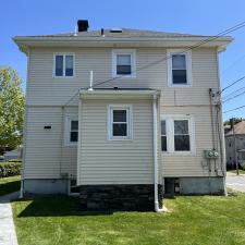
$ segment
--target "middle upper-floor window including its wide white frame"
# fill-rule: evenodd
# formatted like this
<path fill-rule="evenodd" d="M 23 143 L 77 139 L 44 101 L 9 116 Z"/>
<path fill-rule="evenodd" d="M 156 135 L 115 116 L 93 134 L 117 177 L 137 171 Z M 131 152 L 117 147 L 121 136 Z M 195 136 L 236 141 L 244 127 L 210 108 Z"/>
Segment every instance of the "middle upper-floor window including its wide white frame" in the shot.
<path fill-rule="evenodd" d="M 112 76 L 135 77 L 135 50 L 112 50 Z"/>

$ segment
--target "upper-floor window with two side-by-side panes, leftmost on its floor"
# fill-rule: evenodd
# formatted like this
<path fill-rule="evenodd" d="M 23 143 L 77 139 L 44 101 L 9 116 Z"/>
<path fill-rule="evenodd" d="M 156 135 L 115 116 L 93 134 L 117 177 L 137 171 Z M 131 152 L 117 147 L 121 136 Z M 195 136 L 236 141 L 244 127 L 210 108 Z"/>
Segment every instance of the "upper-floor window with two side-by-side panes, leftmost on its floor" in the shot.
<path fill-rule="evenodd" d="M 56 53 L 54 54 L 54 76 L 71 77 L 74 76 L 74 54 Z"/>

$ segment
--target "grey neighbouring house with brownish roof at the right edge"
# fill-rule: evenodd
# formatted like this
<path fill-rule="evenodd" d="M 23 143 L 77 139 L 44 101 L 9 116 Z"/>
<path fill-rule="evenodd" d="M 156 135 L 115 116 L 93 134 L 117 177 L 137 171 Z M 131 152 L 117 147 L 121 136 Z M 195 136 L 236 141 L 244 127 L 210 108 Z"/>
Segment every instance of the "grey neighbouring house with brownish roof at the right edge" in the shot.
<path fill-rule="evenodd" d="M 236 146 L 236 149 L 235 149 Z M 237 162 L 245 163 L 245 121 L 238 122 L 225 134 L 225 152 L 228 168 L 235 168 L 235 150 Z"/>

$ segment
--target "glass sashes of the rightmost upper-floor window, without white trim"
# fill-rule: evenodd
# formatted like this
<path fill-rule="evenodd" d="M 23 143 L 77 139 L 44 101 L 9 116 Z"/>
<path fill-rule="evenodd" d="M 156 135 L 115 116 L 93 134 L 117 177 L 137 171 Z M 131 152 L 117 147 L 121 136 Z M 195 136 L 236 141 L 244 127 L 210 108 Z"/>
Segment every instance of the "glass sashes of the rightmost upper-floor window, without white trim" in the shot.
<path fill-rule="evenodd" d="M 186 59 L 185 54 L 172 56 L 172 83 L 173 84 L 187 84 L 185 59 Z"/>

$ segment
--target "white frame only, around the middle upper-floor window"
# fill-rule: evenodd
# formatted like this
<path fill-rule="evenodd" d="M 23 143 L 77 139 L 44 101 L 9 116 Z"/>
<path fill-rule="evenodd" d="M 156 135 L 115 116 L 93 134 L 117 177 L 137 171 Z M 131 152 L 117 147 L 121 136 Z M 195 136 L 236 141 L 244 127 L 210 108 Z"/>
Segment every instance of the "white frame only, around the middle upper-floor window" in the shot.
<path fill-rule="evenodd" d="M 120 75 L 117 74 L 117 57 L 118 54 L 130 54 L 131 56 L 131 74 Z M 135 49 L 112 49 L 112 77 L 122 78 L 135 78 L 136 77 L 136 50 Z"/>

